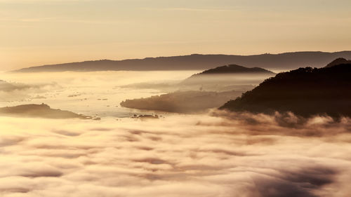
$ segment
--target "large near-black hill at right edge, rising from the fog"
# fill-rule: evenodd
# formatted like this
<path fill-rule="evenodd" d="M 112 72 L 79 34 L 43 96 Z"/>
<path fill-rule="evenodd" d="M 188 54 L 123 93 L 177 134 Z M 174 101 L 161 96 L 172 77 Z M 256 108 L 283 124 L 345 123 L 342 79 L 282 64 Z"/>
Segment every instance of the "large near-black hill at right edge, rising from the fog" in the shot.
<path fill-rule="evenodd" d="M 351 64 L 305 67 L 277 74 L 220 107 L 230 111 L 272 113 L 292 111 L 300 116 L 351 116 Z"/>

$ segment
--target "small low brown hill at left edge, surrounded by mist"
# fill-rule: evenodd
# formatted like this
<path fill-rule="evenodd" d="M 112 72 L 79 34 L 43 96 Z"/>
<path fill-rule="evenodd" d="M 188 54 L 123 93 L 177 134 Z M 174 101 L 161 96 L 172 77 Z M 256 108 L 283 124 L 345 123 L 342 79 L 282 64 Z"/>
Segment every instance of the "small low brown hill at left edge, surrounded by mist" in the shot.
<path fill-rule="evenodd" d="M 23 104 L 14 107 L 1 107 L 0 116 L 21 116 L 32 118 L 80 118 L 91 119 L 90 116 L 75 114 L 71 111 L 51 109 L 47 104 Z"/>

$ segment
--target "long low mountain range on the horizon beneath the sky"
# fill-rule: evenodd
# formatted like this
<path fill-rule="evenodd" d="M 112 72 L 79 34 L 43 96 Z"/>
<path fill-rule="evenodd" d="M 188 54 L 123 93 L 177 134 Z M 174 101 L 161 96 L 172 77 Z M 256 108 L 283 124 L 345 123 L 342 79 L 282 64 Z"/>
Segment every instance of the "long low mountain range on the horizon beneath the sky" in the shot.
<path fill-rule="evenodd" d="M 173 57 L 147 57 L 133 60 L 96 60 L 29 67 L 14 72 L 204 70 L 226 64 L 240 64 L 247 67 L 262 67 L 265 69 L 296 69 L 298 67 L 322 67 L 338 57 L 351 59 L 351 51 L 335 53 L 267 53 L 262 55 L 193 54 Z"/>

